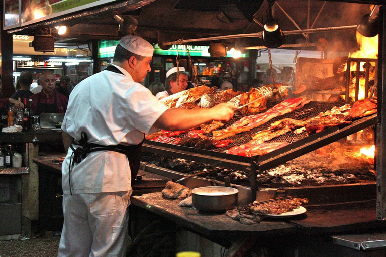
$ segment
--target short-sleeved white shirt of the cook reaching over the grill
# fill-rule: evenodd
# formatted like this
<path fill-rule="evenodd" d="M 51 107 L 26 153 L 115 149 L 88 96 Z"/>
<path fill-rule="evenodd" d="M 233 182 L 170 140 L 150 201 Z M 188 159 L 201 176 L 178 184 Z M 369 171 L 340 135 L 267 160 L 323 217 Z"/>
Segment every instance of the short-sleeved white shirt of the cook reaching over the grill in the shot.
<path fill-rule="evenodd" d="M 115 66 L 115 65 L 114 65 Z M 80 82 L 72 91 L 62 130 L 78 142 L 81 132 L 88 143 L 100 145 L 139 144 L 142 132 L 150 130 L 167 109 L 149 89 L 124 75 L 104 70 Z M 62 165 L 63 193 L 69 194 L 72 149 Z M 126 155 L 97 151 L 70 167 L 71 191 L 75 194 L 131 191 L 131 173 Z"/>

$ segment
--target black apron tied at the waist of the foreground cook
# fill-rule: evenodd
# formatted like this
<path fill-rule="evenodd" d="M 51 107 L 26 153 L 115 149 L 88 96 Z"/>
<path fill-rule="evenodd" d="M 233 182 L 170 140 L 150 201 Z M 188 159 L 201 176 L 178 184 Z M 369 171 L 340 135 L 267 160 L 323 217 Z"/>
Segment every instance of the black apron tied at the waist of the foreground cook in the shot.
<path fill-rule="evenodd" d="M 114 151 L 121 154 L 126 155 L 127 159 L 129 160 L 129 166 L 131 171 L 131 179 L 134 180 L 137 177 L 139 166 L 141 164 L 141 154 L 142 154 L 142 144 L 145 140 L 145 137 L 143 138 L 142 142 L 138 145 L 113 145 L 113 146 L 102 146 L 94 143 L 88 143 L 88 137 L 85 132 L 82 132 L 81 139 L 79 140 L 79 143 L 75 142 L 75 139 L 72 141 L 70 148 L 73 151 L 73 159 L 72 163 L 70 163 L 70 166 L 74 165 L 75 163 L 80 163 L 82 159 L 86 158 L 89 153 L 97 152 L 97 151 Z M 73 145 L 78 145 L 76 149 Z M 71 156 L 72 157 L 72 156 Z M 68 180 L 70 183 L 70 193 L 71 192 L 71 181 L 70 181 L 70 172 L 68 172 Z"/>

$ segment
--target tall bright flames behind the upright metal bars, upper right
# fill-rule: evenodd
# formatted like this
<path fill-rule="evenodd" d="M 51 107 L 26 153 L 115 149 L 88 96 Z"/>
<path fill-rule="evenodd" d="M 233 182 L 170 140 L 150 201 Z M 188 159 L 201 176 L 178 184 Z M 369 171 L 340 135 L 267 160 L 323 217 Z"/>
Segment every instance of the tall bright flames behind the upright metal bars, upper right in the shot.
<path fill-rule="evenodd" d="M 348 57 L 351 58 L 368 58 L 368 59 L 377 59 L 378 58 L 378 35 L 372 38 L 367 38 L 360 34 L 358 31 L 356 32 L 356 41 L 358 42 L 359 49 L 355 53 L 350 53 Z M 360 71 L 364 71 L 364 62 L 360 63 Z M 375 63 L 371 63 L 371 65 L 375 66 Z M 350 71 L 356 71 L 356 62 L 351 63 Z M 375 70 L 373 72 L 370 71 L 369 79 L 373 78 L 375 75 Z M 353 85 L 355 85 L 356 78 L 353 79 Z M 364 85 L 365 79 L 359 78 L 359 92 L 358 99 L 364 99 Z M 350 96 L 355 97 L 355 88 L 350 88 Z"/>

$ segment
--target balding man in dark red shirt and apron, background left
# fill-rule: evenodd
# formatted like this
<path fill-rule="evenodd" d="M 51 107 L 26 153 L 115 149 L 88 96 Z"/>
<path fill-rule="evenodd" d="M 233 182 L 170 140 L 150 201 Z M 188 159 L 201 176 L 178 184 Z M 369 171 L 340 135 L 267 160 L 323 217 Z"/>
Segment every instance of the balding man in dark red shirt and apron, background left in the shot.
<path fill-rule="evenodd" d="M 46 70 L 40 73 L 39 83 L 42 91 L 29 98 L 33 100 L 32 109 L 35 115 L 66 112 L 68 98 L 54 91 L 55 81 L 52 71 Z"/>

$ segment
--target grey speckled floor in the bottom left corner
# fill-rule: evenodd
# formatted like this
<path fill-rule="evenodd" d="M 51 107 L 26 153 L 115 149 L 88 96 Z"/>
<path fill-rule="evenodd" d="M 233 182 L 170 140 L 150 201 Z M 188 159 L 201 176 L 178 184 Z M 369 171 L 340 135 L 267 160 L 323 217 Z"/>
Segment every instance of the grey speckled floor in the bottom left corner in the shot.
<path fill-rule="evenodd" d="M 59 241 L 60 236 L 0 241 L 0 257 L 54 257 Z"/>

